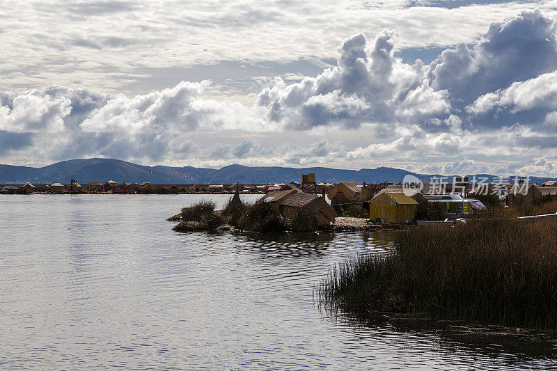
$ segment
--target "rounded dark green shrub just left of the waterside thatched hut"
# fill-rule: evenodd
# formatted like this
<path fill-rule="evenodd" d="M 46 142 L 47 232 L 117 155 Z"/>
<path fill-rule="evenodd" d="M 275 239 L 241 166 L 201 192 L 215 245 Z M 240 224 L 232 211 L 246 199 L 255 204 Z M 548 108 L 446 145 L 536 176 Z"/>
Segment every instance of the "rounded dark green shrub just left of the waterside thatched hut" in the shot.
<path fill-rule="evenodd" d="M 285 219 L 270 203 L 256 203 L 246 210 L 238 226 L 256 232 L 282 232 L 286 230 Z"/>

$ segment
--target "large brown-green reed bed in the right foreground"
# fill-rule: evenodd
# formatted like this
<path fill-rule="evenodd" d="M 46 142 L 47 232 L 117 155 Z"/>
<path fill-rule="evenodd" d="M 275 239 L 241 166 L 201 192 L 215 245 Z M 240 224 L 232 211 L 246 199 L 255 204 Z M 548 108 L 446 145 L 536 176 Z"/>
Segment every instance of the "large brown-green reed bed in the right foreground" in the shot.
<path fill-rule="evenodd" d="M 335 269 L 320 301 L 350 311 L 557 330 L 557 221 L 476 219 L 400 232 L 395 252 Z"/>

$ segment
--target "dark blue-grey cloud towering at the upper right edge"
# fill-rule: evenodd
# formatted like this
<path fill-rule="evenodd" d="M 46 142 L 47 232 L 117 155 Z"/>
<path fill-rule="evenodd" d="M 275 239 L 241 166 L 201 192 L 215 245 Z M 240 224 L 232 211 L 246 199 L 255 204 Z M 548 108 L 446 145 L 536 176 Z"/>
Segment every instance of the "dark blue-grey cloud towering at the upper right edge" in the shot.
<path fill-rule="evenodd" d="M 539 9 L 493 22 L 472 49 L 447 49 L 427 70 L 432 88 L 452 101 L 478 97 L 557 68 L 557 22 Z"/>

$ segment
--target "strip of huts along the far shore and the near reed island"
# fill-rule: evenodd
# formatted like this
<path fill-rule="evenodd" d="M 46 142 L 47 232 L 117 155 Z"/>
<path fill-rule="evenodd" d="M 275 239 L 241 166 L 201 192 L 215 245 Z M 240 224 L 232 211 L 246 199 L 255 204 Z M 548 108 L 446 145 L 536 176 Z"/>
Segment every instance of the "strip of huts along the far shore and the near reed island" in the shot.
<path fill-rule="evenodd" d="M 0 194 L 261 194 L 285 219 L 310 212 L 320 227 L 366 229 L 385 224 L 454 223 L 490 207 L 528 207 L 557 200 L 557 181 L 526 180 L 476 183 L 469 177 L 421 183 L 409 193 L 407 184 L 385 181 L 317 182 L 315 173 L 289 184 L 150 184 L 89 182 L 79 184 L 0 184 Z M 554 214 L 551 212 L 550 214 Z"/>

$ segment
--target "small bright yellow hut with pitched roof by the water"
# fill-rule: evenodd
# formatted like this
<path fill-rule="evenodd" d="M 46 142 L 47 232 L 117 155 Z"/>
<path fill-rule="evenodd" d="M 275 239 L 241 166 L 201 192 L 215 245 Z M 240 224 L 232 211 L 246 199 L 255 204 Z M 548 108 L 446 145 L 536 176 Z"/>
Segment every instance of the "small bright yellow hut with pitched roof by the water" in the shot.
<path fill-rule="evenodd" d="M 370 220 L 382 223 L 411 223 L 418 201 L 405 194 L 382 192 L 370 200 Z"/>

